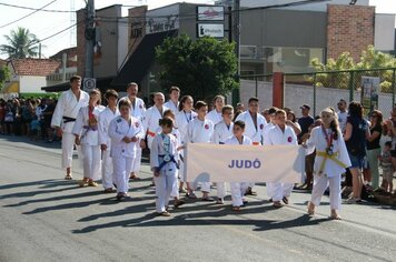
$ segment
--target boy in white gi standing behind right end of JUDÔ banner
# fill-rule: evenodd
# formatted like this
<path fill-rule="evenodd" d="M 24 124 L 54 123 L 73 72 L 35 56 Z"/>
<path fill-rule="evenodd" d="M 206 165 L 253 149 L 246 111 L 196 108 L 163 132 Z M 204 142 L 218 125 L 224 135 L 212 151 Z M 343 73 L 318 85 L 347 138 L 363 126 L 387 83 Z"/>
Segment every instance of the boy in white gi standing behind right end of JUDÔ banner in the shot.
<path fill-rule="evenodd" d="M 286 124 L 286 111 L 278 110 L 275 113 L 275 127 L 271 128 L 267 137 L 264 138 L 264 145 L 274 145 L 274 144 L 289 144 L 297 145 L 297 135 L 295 131 Z M 267 182 L 270 188 L 270 198 L 273 199 L 273 206 L 280 208 L 280 201 L 284 201 L 285 204 L 289 203 L 289 198 L 294 184 L 286 182 Z"/>

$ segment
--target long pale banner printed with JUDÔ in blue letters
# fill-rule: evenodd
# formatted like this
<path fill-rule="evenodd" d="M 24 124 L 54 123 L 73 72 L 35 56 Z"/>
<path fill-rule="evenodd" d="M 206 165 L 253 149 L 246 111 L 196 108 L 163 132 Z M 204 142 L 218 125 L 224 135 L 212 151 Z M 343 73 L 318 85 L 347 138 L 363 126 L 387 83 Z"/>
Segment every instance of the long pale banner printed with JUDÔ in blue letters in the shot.
<path fill-rule="evenodd" d="M 187 182 L 301 182 L 305 149 L 299 145 L 188 143 Z"/>

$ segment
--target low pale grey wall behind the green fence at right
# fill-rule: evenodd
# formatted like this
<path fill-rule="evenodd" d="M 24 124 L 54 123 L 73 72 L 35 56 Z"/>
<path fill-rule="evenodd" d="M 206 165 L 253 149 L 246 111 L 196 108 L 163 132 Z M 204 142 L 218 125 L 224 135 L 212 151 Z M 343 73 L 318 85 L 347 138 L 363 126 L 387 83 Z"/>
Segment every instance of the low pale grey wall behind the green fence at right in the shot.
<path fill-rule="evenodd" d="M 240 101 L 247 108 L 249 98 L 256 97 L 256 82 L 253 80 L 240 81 Z M 259 99 L 260 111 L 273 105 L 273 83 L 258 82 L 257 98 Z M 316 103 L 314 104 L 314 88 L 311 85 L 286 84 L 285 85 L 285 107 L 291 108 L 297 117 L 300 117 L 300 109 L 304 103 L 311 108 L 311 114 L 318 114 L 320 110 L 327 107 L 337 108 L 337 102 L 340 99 L 349 101 L 349 90 L 317 88 Z M 360 101 L 360 92 L 354 92 L 354 100 Z M 314 105 L 316 111 L 314 112 Z M 379 110 L 384 117 L 389 117 L 392 110 L 392 94 L 379 93 L 378 98 Z"/>

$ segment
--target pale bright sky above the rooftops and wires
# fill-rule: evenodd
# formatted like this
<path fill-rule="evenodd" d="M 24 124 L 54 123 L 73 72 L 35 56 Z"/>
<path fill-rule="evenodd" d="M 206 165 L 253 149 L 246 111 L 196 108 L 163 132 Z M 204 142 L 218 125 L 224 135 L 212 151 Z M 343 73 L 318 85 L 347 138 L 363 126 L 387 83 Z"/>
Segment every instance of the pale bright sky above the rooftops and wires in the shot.
<path fill-rule="evenodd" d="M 185 2 L 196 2 L 196 3 L 214 3 L 210 0 L 180 0 Z M 131 6 L 148 4 L 149 9 L 155 9 L 162 6 L 168 6 L 175 2 L 180 2 L 175 0 L 95 0 L 96 9 L 112 4 L 122 4 L 123 16 L 127 14 L 128 8 Z M 370 6 L 376 6 L 376 12 L 379 13 L 396 13 L 396 0 L 370 0 Z M 0 3 L 8 3 L 29 8 L 41 8 L 50 3 L 44 9 L 47 10 L 79 10 L 85 8 L 85 0 L 0 0 Z M 69 28 L 76 21 L 75 16 L 70 12 L 36 12 L 18 22 L 13 22 L 29 13 L 32 10 L 26 10 L 13 7 L 6 7 L 0 4 L 0 44 L 7 44 L 4 34 L 9 34 L 11 30 L 18 27 L 28 28 L 31 33 L 34 33 L 38 39 L 48 38 L 66 28 Z M 11 23 L 12 22 L 12 23 Z M 10 23 L 10 24 L 8 24 Z M 8 26 L 7 26 L 8 24 Z M 58 51 L 73 47 L 76 44 L 76 31 L 66 30 L 57 34 L 56 37 L 49 38 L 42 42 L 42 56 L 48 58 Z M 6 59 L 7 56 L 0 54 L 1 59 Z"/>

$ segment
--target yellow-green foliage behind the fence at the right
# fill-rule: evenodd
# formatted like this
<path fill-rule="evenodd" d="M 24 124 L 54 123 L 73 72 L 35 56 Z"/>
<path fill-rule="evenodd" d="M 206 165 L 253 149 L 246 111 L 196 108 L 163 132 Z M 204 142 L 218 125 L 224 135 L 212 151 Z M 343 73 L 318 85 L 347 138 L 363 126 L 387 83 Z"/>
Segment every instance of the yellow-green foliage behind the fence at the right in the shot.
<path fill-rule="evenodd" d="M 376 51 L 373 46 L 368 46 L 362 51 L 360 61 L 355 63 L 349 52 L 343 52 L 337 59 L 328 59 L 327 63 L 320 63 L 318 59 L 311 60 L 311 67 L 316 74 L 316 87 L 339 88 L 339 89 L 358 89 L 362 77 L 379 77 L 380 91 L 392 92 L 392 82 L 396 59 L 390 54 Z M 373 70 L 385 69 L 389 70 Z M 356 70 L 350 72 L 328 72 Z M 363 70 L 363 71 L 362 71 Z M 325 72 L 325 73 L 320 73 Z M 353 77 L 353 79 L 352 79 Z"/>

